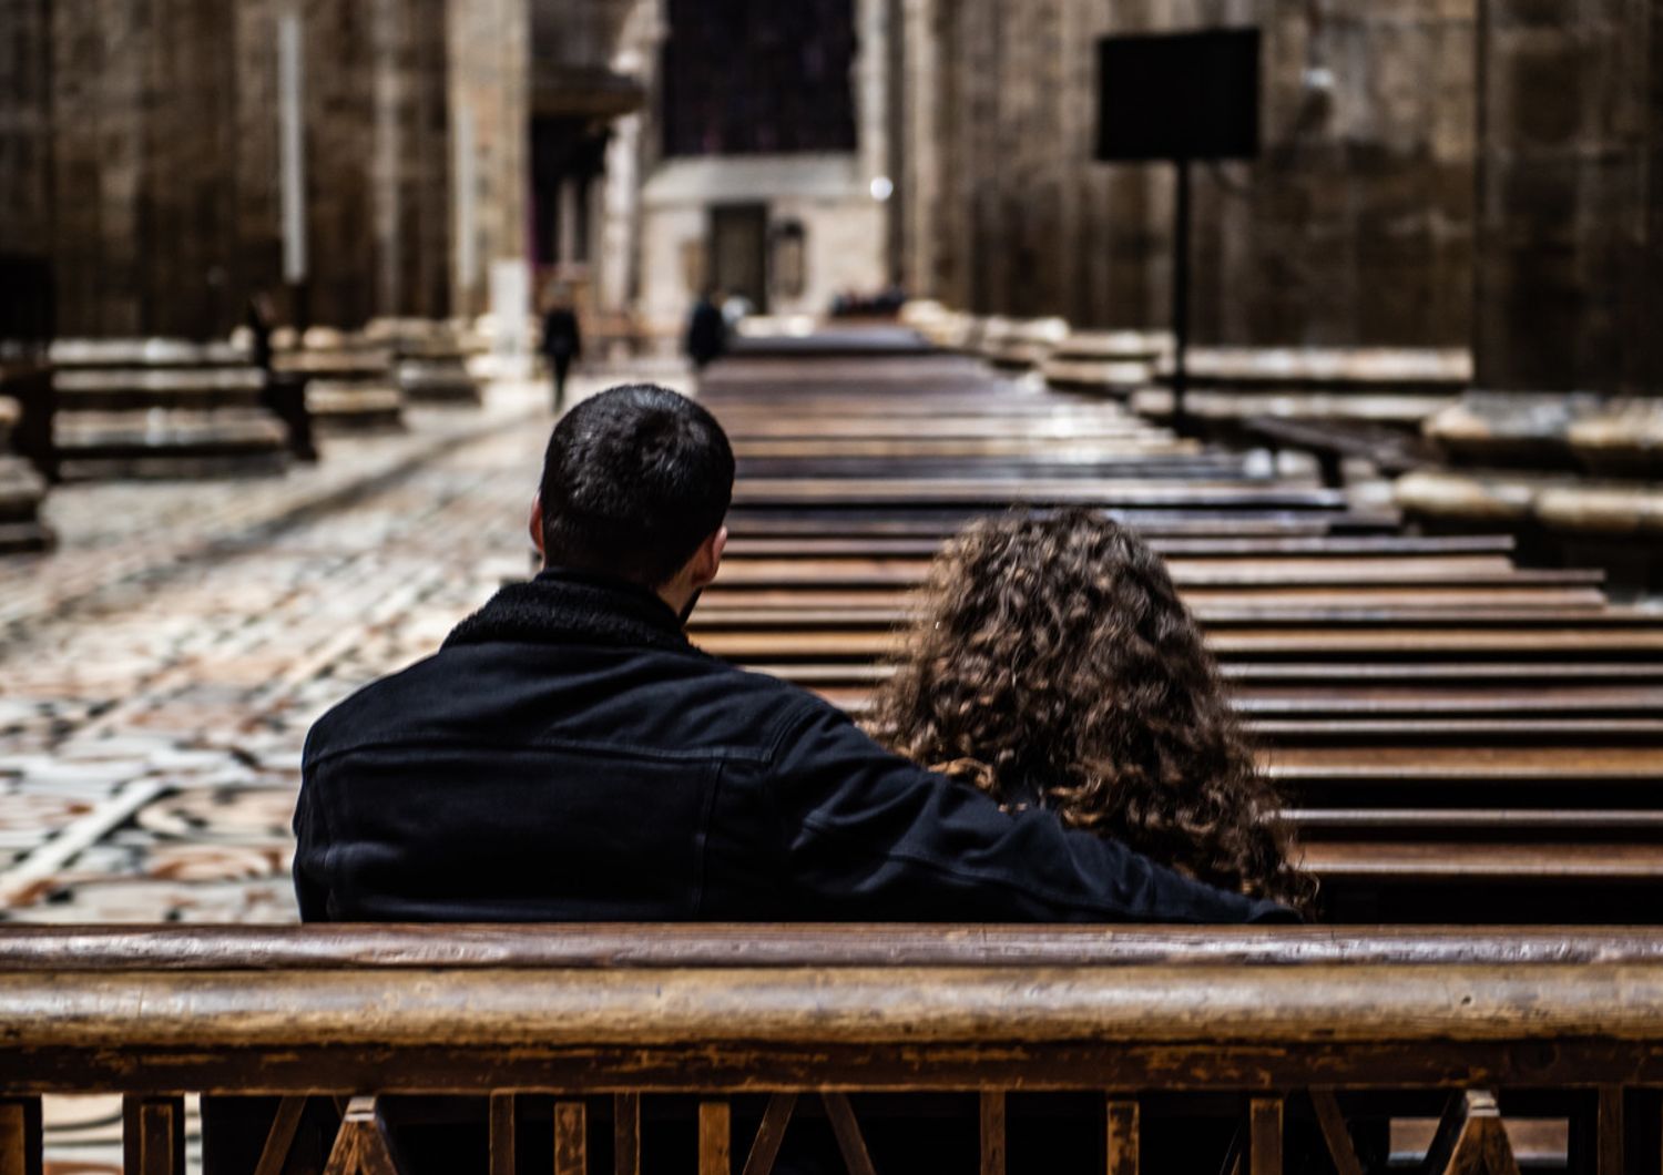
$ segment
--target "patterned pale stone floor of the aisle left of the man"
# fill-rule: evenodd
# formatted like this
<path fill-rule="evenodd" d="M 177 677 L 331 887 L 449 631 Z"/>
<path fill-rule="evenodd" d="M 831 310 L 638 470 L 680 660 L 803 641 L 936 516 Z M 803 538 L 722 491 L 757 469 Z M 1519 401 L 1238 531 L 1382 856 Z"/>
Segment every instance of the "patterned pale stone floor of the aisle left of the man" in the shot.
<path fill-rule="evenodd" d="M 55 492 L 62 550 L 0 562 L 0 917 L 293 921 L 306 730 L 526 570 L 542 396 L 281 479 Z"/>

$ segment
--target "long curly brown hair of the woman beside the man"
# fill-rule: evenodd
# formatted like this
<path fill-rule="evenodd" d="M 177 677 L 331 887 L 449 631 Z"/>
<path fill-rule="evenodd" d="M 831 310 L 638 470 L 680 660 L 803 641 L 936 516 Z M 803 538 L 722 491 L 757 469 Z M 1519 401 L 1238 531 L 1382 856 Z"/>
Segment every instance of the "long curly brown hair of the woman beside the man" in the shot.
<path fill-rule="evenodd" d="M 983 519 L 953 538 L 866 726 L 1201 881 L 1300 911 L 1315 897 L 1166 565 L 1103 515 Z"/>

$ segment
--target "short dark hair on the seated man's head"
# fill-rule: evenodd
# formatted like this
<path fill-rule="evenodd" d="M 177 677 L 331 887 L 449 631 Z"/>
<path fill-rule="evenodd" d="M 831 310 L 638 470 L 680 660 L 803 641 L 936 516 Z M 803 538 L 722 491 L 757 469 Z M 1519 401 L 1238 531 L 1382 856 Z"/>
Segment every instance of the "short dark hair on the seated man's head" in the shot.
<path fill-rule="evenodd" d="M 540 494 L 550 567 L 655 588 L 720 529 L 733 499 L 733 449 L 693 401 L 627 384 L 554 425 Z"/>

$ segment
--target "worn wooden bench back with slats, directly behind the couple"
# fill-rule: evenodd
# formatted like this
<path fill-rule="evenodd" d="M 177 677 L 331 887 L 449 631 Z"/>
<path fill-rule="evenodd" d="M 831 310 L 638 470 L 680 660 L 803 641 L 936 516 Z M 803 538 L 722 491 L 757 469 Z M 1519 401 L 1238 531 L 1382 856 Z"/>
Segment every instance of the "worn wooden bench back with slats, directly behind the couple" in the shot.
<path fill-rule="evenodd" d="M 0 1172 L 38 1170 L 45 1094 L 125 1094 L 128 1170 L 181 1170 L 185 1094 L 339 1099 L 329 1172 L 396 1170 L 378 1099 L 489 1095 L 492 1172 L 522 1095 L 554 1095 L 554 1165 L 589 1118 L 639 1172 L 642 1107 L 697 1102 L 685 1170 L 770 1170 L 798 1105 L 875 1168 L 848 1094 L 980 1097 L 983 1175 L 1011 1092 L 1086 1092 L 1106 1168 L 1146 1105 L 1237 1115 L 1237 1170 L 1384 1162 L 1384 1122 L 1442 1114 L 1432 1172 L 1515 1170 L 1502 1114 L 1570 1123 L 1572 1170 L 1663 1155 L 1663 932 L 1109 927 L 13 929 L 0 939 Z M 732 1099 L 770 1095 L 735 1137 Z M 1219 1097 L 1226 1095 L 1226 1097 Z M 762 1102 L 758 1102 L 762 1105 Z M 1176 1107 L 1176 1109 L 1174 1109 Z M 1407 1109 L 1405 1109 L 1407 1107 Z M 1201 1114 L 1202 1110 L 1194 1110 Z M 1370 1157 L 1375 1155 L 1375 1157 Z M 1149 1167 L 1147 1170 L 1154 1170 Z"/>

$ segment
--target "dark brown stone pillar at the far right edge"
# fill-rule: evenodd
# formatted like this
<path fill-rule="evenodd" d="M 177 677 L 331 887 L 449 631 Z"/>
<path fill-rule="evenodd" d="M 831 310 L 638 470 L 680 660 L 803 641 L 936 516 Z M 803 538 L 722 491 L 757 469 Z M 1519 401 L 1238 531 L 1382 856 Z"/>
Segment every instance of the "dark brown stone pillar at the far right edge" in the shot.
<path fill-rule="evenodd" d="M 1483 0 L 1478 384 L 1658 392 L 1663 3 Z"/>

